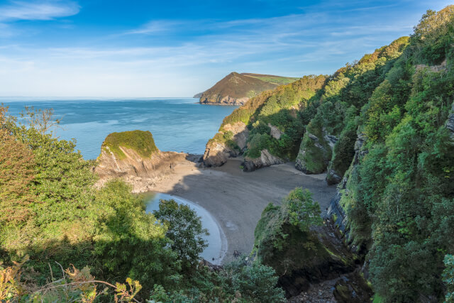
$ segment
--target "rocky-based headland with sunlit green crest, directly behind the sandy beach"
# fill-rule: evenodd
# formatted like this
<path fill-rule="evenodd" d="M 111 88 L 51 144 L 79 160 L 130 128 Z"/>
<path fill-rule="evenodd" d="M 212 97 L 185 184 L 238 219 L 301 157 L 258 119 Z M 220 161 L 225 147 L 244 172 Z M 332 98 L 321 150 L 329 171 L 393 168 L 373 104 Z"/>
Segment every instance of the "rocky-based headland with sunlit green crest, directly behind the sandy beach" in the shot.
<path fill-rule="evenodd" d="M 251 171 L 296 158 L 304 132 L 299 110 L 325 80 L 323 75 L 305 76 L 250 99 L 223 120 L 206 145 L 204 164 L 219 166 L 244 154 L 243 170 Z"/>

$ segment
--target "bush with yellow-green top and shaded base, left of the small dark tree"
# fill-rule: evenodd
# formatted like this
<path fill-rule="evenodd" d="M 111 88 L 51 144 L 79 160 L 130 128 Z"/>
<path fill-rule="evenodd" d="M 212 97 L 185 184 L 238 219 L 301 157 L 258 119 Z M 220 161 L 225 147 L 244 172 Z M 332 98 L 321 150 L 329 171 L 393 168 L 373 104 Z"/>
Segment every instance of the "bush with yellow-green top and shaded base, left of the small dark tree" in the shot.
<path fill-rule="evenodd" d="M 130 192 L 125 183 L 113 181 L 96 193 L 102 212 L 94 236 L 95 268 L 107 278 L 143 281 L 143 293 L 148 293 L 155 283 L 175 283 L 181 261 L 167 248 L 166 228 L 156 224 L 155 216 L 145 213 L 143 200 Z"/>

